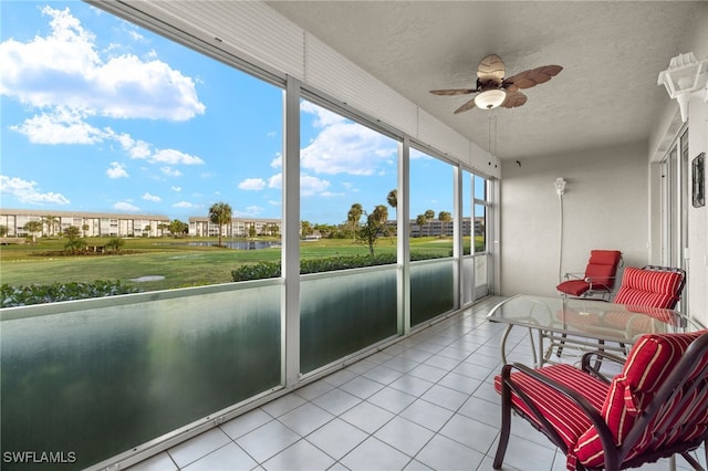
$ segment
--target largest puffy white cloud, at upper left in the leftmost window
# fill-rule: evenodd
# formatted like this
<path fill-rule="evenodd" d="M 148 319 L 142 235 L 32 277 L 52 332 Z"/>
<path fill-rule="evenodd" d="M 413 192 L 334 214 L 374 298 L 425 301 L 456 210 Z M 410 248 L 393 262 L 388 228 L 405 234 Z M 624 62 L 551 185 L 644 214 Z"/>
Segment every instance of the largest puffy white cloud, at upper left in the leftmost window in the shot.
<path fill-rule="evenodd" d="M 186 121 L 204 114 L 191 77 L 158 60 L 103 59 L 95 35 L 69 8 L 44 7 L 42 13 L 51 18 L 48 35 L 0 43 L 0 94 L 32 107 L 115 118 Z"/>

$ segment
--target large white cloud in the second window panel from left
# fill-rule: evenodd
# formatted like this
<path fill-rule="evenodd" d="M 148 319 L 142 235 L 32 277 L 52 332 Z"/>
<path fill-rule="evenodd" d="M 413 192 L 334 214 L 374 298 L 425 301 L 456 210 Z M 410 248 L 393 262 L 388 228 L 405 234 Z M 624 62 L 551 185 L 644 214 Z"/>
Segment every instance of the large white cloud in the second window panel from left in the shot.
<path fill-rule="evenodd" d="M 384 135 L 303 102 L 322 130 L 301 151 L 302 168 L 316 174 L 381 175 L 393 167 L 398 146 Z"/>

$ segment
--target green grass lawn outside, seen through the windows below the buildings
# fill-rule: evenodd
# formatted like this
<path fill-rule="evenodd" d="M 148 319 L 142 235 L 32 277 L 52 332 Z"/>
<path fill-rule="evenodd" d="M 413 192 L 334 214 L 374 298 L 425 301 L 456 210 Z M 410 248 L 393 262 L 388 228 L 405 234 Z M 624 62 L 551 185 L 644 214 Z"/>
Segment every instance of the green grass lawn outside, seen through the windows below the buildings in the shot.
<path fill-rule="evenodd" d="M 169 290 L 231 282 L 231 270 L 243 263 L 279 261 L 280 249 L 233 250 L 216 247 L 190 247 L 188 241 L 216 239 L 125 239 L 124 254 L 62 257 L 59 251 L 65 240 L 39 239 L 35 244 L 0 248 L 0 283 L 13 286 L 31 283 L 93 282 L 121 280 L 142 291 Z M 90 238 L 88 245 L 104 245 L 107 239 Z M 183 244 L 178 244 L 184 242 Z M 469 244 L 469 240 L 466 240 Z M 376 253 L 395 253 L 396 240 L 382 239 Z M 449 255 L 451 239 L 417 238 L 410 241 L 415 252 Z M 302 259 L 367 255 L 368 248 L 351 240 L 322 239 L 300 243 Z M 52 254 L 54 252 L 54 254 Z M 164 280 L 132 282 L 140 276 L 164 276 Z"/>

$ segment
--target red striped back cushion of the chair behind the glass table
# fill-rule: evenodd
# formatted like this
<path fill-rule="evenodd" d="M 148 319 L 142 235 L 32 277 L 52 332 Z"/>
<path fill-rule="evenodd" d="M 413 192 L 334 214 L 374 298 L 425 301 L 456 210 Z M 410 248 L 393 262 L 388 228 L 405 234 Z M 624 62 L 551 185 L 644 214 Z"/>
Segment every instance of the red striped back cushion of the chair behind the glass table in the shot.
<path fill-rule="evenodd" d="M 622 276 L 622 286 L 614 299 L 615 304 L 670 307 L 678 301 L 677 292 L 681 274 L 627 266 Z"/>

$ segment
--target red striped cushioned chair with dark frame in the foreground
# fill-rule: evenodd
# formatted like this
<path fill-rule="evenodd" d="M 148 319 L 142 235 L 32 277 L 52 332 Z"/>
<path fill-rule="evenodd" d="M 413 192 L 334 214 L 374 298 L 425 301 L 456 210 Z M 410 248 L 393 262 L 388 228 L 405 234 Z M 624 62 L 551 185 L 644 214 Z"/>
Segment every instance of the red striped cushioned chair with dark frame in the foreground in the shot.
<path fill-rule="evenodd" d="M 624 367 L 604 381 L 593 375 L 594 355 L 624 362 Z M 708 460 L 708 329 L 647 334 L 626 362 L 589 353 L 582 366 L 503 366 L 494 378 L 501 394 L 494 469 L 507 451 L 512 410 L 563 450 L 569 470 L 614 471 L 674 454 L 704 469 L 688 453 L 704 444 Z"/>

